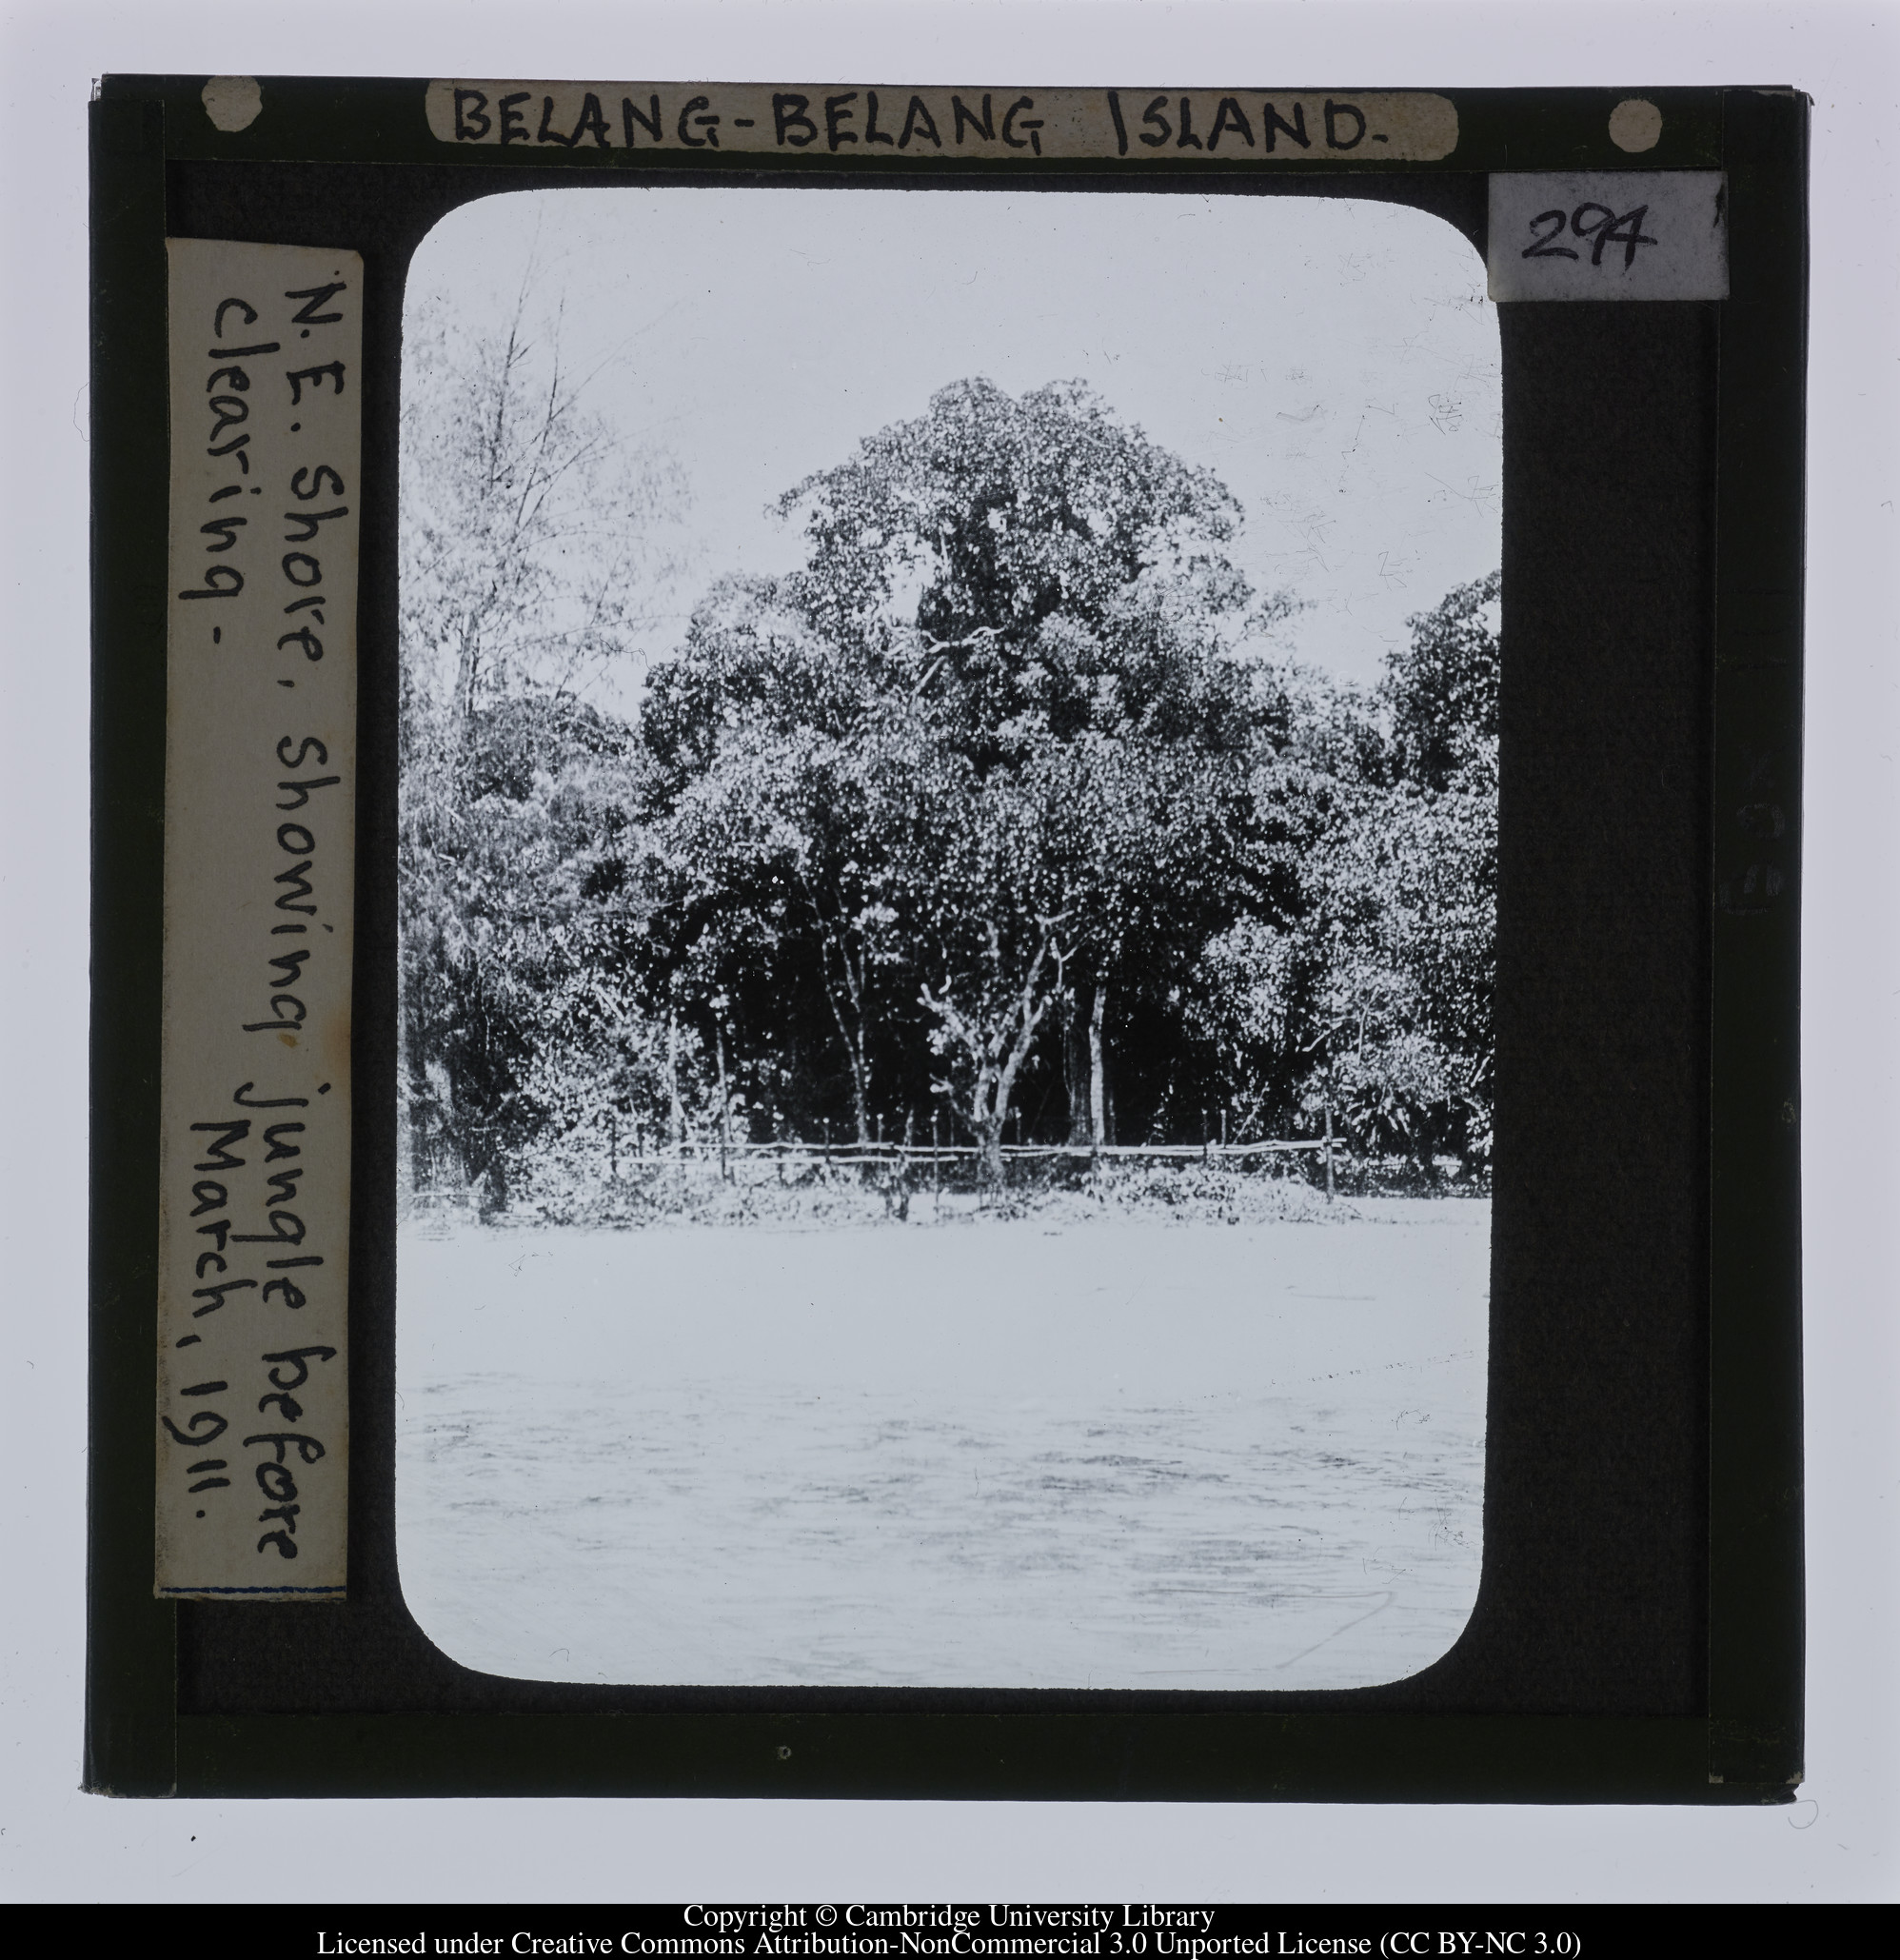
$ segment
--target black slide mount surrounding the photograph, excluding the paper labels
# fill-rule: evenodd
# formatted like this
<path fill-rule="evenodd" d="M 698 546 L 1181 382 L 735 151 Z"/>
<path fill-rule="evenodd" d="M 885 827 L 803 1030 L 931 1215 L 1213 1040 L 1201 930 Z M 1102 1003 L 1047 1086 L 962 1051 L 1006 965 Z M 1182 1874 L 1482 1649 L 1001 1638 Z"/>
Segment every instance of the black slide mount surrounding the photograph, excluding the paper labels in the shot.
<path fill-rule="evenodd" d="M 422 82 L 267 80 L 269 112 L 220 137 L 200 86 L 112 78 L 92 112 L 88 1788 L 1786 1799 L 1804 98 L 1651 92 L 1665 147 L 1627 159 L 1604 137 L 1616 92 L 1445 90 L 1453 159 L 1322 176 L 455 151 L 422 123 Z M 1445 1660 L 1392 1688 L 1306 1695 L 710 1693 L 502 1682 L 427 1642 L 394 1566 L 394 1133 L 369 1092 L 394 1080 L 388 525 L 369 527 L 363 557 L 351 1601 L 151 1599 L 167 229 L 365 253 L 365 494 L 392 512 L 402 276 L 435 218 L 475 196 L 565 182 L 1351 194 L 1433 210 L 1482 247 L 1476 172 L 1633 165 L 1729 171 L 1733 298 L 1504 312 L 1498 1127 L 1522 1174 L 1500 1180 L 1494 1209 L 1484 1586 Z"/>

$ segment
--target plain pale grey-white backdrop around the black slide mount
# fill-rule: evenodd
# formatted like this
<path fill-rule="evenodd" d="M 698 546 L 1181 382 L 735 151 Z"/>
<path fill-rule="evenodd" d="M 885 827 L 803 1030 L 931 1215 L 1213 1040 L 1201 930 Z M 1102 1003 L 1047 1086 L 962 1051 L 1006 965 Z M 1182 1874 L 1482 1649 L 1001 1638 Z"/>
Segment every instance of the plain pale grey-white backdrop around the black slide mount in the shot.
<path fill-rule="evenodd" d="M 8 4 L 0 529 L 6 1533 L 0 1889 L 20 1899 L 1890 1899 L 1900 20 L 1890 4 L 692 8 Z M 104 71 L 892 76 L 1816 96 L 1806 1286 L 1810 1780 L 1775 1811 L 112 1803 L 76 1791 L 84 1576 L 84 102 Z M 157 737 L 157 731 L 153 731 Z"/>

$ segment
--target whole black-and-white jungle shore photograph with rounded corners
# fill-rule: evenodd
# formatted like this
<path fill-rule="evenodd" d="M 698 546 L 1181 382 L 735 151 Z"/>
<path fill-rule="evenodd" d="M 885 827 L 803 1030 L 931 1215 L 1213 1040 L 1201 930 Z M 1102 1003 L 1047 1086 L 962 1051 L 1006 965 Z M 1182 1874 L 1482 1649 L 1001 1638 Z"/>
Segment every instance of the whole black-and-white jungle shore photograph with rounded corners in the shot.
<path fill-rule="evenodd" d="M 404 308 L 398 1548 L 492 1674 L 1478 1588 L 1502 394 L 1380 202 L 512 192 Z"/>

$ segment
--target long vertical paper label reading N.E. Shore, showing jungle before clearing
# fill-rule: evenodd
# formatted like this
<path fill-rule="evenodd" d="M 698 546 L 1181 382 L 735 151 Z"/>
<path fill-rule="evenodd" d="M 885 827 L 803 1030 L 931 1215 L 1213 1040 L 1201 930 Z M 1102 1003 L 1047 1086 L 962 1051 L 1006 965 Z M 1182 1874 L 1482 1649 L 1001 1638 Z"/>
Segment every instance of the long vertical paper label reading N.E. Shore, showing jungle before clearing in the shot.
<path fill-rule="evenodd" d="M 335 1599 L 363 261 L 167 253 L 157 1592 Z"/>

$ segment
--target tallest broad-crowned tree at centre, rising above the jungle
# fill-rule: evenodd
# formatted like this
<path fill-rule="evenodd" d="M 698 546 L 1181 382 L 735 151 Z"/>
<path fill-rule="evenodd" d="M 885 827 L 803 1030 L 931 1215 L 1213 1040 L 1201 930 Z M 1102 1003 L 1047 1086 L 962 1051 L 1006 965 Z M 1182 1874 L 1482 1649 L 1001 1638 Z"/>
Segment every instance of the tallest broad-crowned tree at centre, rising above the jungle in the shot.
<path fill-rule="evenodd" d="M 1233 498 L 1076 382 L 1010 398 L 967 380 L 798 484 L 782 510 L 810 541 L 786 582 L 796 602 L 814 631 L 857 649 L 873 686 L 925 711 L 961 784 L 937 835 L 990 866 L 978 955 L 955 984 L 943 972 L 920 990 L 939 1054 L 963 1058 L 965 1119 L 990 1152 L 1055 1000 L 1075 1070 L 1080 988 L 1100 1137 L 1108 988 L 1137 937 L 1153 964 L 1196 937 L 1184 921 L 1212 888 L 1224 888 L 1214 909 L 1229 902 L 1253 809 L 1263 700 L 1257 668 L 1235 659 L 1251 594 L 1225 555 Z M 1159 778 L 1169 794 L 1147 796 Z M 1084 806 L 1094 829 L 1078 849 L 1071 811 Z M 1135 809 L 1141 821 L 1124 821 Z M 1182 849 L 1182 817 L 1196 849 Z M 1020 833 L 1008 849 L 1006 827 Z M 955 939 L 947 917 L 929 907 L 937 955 Z"/>

